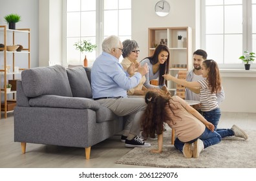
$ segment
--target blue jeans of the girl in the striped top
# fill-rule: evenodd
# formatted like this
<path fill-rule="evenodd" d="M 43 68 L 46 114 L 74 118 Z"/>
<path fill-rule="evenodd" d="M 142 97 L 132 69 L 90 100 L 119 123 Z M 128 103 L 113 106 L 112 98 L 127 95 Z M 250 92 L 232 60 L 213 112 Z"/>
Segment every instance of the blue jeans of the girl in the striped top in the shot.
<path fill-rule="evenodd" d="M 231 129 L 217 129 L 221 115 L 220 108 L 214 109 L 213 111 L 202 112 L 202 115 L 206 120 L 208 120 L 208 122 L 214 125 L 214 130 L 220 134 L 221 138 L 235 135 L 235 133 Z"/>

